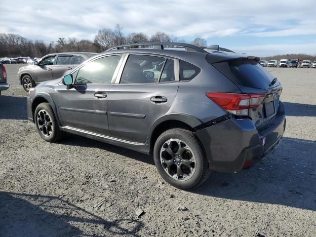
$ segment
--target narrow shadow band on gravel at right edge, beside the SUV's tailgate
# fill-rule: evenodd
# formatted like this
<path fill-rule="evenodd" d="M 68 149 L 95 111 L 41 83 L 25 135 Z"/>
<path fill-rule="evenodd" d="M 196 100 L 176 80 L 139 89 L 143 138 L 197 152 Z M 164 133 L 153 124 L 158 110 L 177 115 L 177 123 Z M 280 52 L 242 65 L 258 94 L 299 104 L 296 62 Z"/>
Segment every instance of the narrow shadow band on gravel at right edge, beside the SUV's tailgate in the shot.
<path fill-rule="evenodd" d="M 316 105 L 282 102 L 287 116 L 316 117 Z"/>

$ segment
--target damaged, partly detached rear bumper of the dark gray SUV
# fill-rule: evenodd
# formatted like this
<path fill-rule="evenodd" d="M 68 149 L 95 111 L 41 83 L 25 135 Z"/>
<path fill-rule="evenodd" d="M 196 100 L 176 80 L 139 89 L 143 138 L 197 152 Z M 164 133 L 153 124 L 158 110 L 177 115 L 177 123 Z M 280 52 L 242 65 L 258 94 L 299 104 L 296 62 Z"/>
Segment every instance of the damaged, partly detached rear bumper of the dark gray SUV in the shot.
<path fill-rule="evenodd" d="M 197 131 L 196 135 L 205 148 L 210 170 L 236 172 L 243 168 L 245 161 L 268 156 L 280 142 L 284 130 L 285 108 L 280 102 L 276 118 L 269 127 L 259 131 L 249 118 L 230 118 Z"/>

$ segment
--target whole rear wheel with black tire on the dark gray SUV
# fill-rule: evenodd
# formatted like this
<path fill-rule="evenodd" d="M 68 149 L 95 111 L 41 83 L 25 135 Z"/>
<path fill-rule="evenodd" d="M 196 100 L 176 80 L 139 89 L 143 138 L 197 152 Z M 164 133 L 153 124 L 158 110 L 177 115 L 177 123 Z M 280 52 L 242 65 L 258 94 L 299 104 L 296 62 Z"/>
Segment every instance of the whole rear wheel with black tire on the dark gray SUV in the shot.
<path fill-rule="evenodd" d="M 179 144 L 182 155 L 179 155 Z M 163 132 L 154 146 L 154 161 L 161 177 L 178 189 L 196 188 L 209 175 L 204 149 L 196 135 L 186 129 L 172 128 Z"/>

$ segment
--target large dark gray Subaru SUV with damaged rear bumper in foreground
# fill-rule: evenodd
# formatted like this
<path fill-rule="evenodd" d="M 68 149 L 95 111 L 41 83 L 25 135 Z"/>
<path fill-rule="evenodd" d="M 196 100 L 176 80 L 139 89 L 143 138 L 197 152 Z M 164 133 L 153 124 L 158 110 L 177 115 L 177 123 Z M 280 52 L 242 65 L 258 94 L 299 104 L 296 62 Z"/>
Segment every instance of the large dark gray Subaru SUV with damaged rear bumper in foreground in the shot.
<path fill-rule="evenodd" d="M 69 132 L 153 155 L 164 180 L 193 188 L 280 142 L 282 86 L 258 61 L 218 45 L 117 46 L 31 88 L 28 118 L 48 142 Z"/>

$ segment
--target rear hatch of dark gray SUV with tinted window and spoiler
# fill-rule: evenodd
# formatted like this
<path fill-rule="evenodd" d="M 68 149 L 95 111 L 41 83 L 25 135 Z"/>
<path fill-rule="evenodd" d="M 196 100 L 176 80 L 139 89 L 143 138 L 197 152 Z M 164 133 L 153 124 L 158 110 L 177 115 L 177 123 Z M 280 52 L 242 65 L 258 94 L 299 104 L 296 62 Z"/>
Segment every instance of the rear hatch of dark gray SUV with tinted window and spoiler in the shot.
<path fill-rule="evenodd" d="M 212 57 L 207 56 L 207 61 Z M 258 58 L 238 56 L 235 59 L 211 63 L 217 70 L 233 81 L 242 94 L 250 96 L 247 116 L 252 119 L 257 129 L 268 126 L 276 117 L 282 86 L 268 70 L 259 63 Z M 247 108 L 247 107 L 245 107 Z"/>

